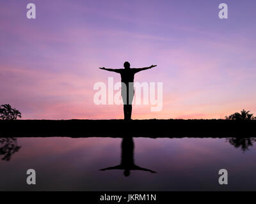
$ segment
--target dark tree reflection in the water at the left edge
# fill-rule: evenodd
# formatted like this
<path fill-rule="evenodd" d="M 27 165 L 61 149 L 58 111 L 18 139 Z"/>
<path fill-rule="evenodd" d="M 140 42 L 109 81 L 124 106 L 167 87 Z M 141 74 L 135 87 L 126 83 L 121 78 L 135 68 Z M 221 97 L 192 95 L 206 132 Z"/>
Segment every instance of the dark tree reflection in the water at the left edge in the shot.
<path fill-rule="evenodd" d="M 10 161 L 12 155 L 18 152 L 21 146 L 17 144 L 17 138 L 0 138 L 0 155 L 4 161 Z"/>

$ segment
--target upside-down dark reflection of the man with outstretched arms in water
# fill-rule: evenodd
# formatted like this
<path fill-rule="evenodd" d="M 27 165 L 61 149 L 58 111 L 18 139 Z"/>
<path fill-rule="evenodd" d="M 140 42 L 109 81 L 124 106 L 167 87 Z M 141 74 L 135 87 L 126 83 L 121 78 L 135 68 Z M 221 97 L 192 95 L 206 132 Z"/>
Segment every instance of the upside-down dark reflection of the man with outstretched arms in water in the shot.
<path fill-rule="evenodd" d="M 156 171 L 148 170 L 147 168 L 141 168 L 134 164 L 134 143 L 132 137 L 124 137 L 122 140 L 122 159 L 121 164 L 117 166 L 111 166 L 104 168 L 100 171 L 105 170 L 124 170 L 125 177 L 130 175 L 131 170 L 141 170 L 141 171 L 150 171 L 151 173 L 156 173 Z"/>

